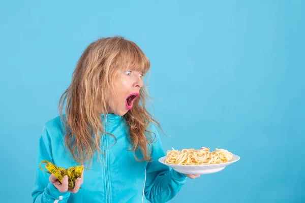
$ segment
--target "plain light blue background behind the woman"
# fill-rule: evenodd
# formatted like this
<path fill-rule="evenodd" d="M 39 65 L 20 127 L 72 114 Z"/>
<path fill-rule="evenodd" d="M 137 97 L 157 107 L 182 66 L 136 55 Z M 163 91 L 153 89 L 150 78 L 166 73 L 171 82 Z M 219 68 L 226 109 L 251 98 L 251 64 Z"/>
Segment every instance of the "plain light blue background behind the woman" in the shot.
<path fill-rule="evenodd" d="M 1 200 L 31 202 L 38 139 L 85 47 L 123 36 L 151 60 L 171 147 L 241 159 L 171 202 L 303 202 L 304 1 L 6 1 L 0 4 Z M 153 108 L 149 107 L 153 112 Z"/>

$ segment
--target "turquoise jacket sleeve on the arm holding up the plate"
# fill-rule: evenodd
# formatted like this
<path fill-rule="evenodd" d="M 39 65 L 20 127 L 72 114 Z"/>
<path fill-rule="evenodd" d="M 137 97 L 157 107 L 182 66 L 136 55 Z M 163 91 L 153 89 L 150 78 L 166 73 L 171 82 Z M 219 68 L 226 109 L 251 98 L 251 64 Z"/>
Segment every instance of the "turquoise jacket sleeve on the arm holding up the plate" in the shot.
<path fill-rule="evenodd" d="M 181 186 L 187 181 L 185 174 L 170 170 L 167 165 L 158 161 L 165 156 L 159 134 L 154 126 L 151 131 L 156 133 L 156 142 L 151 151 L 151 162 L 146 167 L 146 183 L 144 194 L 150 202 L 166 202 L 172 199 Z"/>

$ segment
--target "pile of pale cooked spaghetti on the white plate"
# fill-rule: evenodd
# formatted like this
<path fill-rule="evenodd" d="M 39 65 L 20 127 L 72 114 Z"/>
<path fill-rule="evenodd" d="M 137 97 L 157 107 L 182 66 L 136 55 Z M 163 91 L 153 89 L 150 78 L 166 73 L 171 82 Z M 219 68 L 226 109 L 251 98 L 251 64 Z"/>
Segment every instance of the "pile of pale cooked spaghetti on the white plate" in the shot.
<path fill-rule="evenodd" d="M 165 163 L 175 165 L 209 165 L 225 163 L 233 160 L 233 154 L 225 149 L 217 149 L 210 152 L 208 147 L 199 150 L 182 149 L 167 151 Z"/>

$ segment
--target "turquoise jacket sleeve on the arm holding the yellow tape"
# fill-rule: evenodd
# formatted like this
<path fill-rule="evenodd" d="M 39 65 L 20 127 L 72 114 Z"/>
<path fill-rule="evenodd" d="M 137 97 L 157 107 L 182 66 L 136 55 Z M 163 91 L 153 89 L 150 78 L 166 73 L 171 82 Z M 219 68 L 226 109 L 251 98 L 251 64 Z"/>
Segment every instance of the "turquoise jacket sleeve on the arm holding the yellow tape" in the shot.
<path fill-rule="evenodd" d="M 39 163 L 43 160 L 54 163 L 52 158 L 51 139 L 44 125 L 39 139 L 37 160 L 35 165 L 34 186 L 32 190 L 33 203 L 65 203 L 70 192 L 60 192 L 52 183 L 49 182 L 50 174 L 43 172 L 39 168 Z M 44 170 L 46 170 L 43 167 Z"/>

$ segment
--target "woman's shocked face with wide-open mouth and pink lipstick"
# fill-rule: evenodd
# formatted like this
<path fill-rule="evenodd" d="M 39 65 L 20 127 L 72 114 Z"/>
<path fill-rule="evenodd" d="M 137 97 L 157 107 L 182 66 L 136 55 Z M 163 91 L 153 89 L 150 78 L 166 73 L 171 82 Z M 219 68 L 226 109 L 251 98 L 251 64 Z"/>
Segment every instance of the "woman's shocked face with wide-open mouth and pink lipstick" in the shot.
<path fill-rule="evenodd" d="M 123 116 L 132 109 L 143 86 L 143 75 L 137 71 L 120 71 L 114 81 L 114 92 L 108 100 L 109 111 Z"/>

